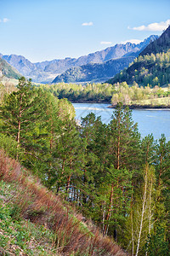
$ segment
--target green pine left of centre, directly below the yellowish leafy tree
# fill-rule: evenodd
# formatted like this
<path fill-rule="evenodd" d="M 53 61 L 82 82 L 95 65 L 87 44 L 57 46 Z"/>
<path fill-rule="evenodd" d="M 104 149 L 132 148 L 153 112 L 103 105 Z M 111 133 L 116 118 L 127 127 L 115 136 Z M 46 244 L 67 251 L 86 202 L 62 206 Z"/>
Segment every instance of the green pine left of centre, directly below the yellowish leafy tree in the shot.
<path fill-rule="evenodd" d="M 59 136 L 55 138 L 53 156 L 58 162 L 58 168 L 54 173 L 52 188 L 58 192 L 63 190 L 66 193 L 65 198 L 72 201 L 70 193 L 73 187 L 78 190 L 77 181 L 82 177 L 84 165 L 84 144 L 74 119 L 63 121 L 62 130 Z"/>

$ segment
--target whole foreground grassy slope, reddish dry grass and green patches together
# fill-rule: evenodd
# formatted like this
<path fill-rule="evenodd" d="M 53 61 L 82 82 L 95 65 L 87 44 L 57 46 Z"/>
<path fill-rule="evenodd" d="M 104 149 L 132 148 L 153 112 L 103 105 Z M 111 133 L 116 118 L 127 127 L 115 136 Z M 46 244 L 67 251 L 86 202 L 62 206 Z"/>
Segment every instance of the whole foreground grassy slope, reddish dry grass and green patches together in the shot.
<path fill-rule="evenodd" d="M 126 255 L 0 151 L 0 254 Z"/>

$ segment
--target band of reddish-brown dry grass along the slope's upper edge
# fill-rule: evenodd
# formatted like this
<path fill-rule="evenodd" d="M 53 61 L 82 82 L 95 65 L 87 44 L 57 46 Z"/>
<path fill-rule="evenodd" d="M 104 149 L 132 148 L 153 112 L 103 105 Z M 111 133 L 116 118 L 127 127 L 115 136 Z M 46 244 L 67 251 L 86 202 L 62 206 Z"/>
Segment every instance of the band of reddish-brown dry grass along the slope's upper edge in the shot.
<path fill-rule="evenodd" d="M 54 230 L 53 246 L 61 255 L 127 255 L 109 237 L 103 237 L 95 226 L 83 229 L 81 216 L 72 215 L 59 196 L 42 186 L 36 177 L 29 176 L 29 172 L 3 151 L 0 151 L 0 179 L 17 184 L 12 200 L 20 216 Z"/>

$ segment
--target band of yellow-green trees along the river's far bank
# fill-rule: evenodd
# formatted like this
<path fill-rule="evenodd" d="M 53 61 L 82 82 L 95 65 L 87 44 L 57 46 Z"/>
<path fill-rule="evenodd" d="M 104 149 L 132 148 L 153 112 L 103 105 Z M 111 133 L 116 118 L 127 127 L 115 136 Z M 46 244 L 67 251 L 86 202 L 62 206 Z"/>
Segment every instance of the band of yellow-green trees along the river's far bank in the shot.
<path fill-rule="evenodd" d="M 67 98 L 71 102 L 108 102 L 116 105 L 122 102 L 124 105 L 150 104 L 155 106 L 170 105 L 170 86 L 162 89 L 158 85 L 150 88 L 143 87 L 133 82 L 128 86 L 126 82 L 116 84 L 52 84 L 41 85 L 43 90 L 48 90 L 59 99 Z M 156 99 L 161 102 L 156 102 Z M 146 103 L 145 103 L 146 102 Z"/>

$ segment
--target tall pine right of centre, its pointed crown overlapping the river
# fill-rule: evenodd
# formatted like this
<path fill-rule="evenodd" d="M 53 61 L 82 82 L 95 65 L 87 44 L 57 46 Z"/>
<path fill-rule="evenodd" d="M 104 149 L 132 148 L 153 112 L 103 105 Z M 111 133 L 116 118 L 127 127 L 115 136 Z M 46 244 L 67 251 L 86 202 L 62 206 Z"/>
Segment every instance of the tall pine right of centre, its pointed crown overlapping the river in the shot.
<path fill-rule="evenodd" d="M 117 104 L 116 110 L 111 120 L 110 143 L 109 143 L 109 160 L 113 164 L 116 172 L 126 169 L 128 172 L 138 168 L 139 164 L 139 132 L 137 125 L 133 124 L 132 113 L 128 108 L 123 108 L 122 103 Z M 117 177 L 118 183 L 118 177 Z M 111 216 L 111 208 L 113 207 L 114 181 L 111 182 L 111 195 L 108 210 L 106 213 L 106 221 Z M 116 222 L 116 219 L 115 219 Z M 108 223 L 109 224 L 109 223 Z M 106 233 L 105 227 L 105 233 Z M 115 238 L 117 239 L 117 230 L 115 229 Z"/>

